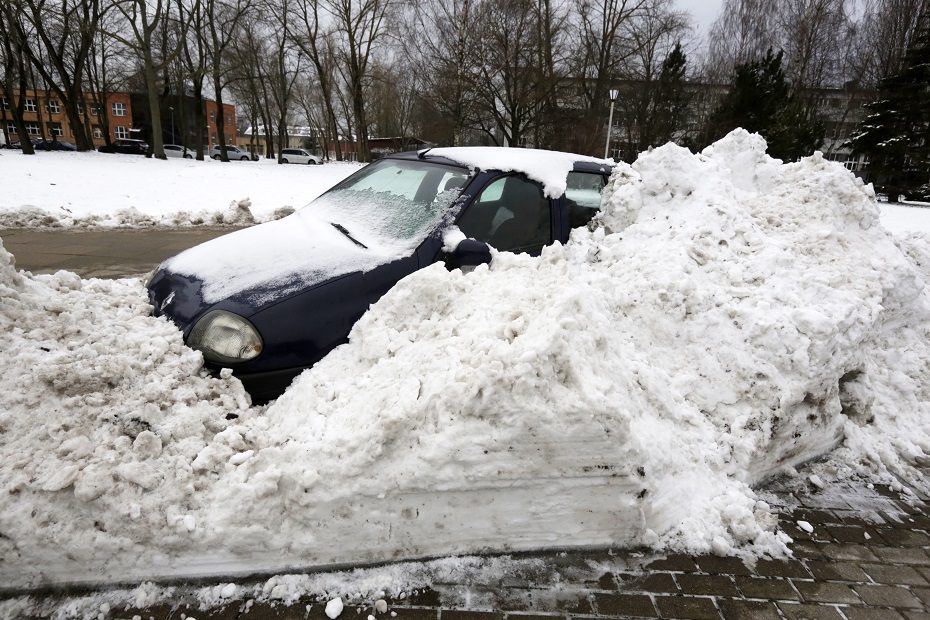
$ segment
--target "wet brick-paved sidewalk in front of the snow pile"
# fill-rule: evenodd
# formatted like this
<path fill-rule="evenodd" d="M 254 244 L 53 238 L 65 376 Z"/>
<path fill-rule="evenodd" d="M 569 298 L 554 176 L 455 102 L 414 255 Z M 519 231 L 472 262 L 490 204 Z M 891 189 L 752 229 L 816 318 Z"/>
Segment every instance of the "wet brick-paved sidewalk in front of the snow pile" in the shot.
<path fill-rule="evenodd" d="M 388 599 L 390 615 L 376 614 L 373 601 L 353 601 L 340 620 L 369 614 L 378 620 L 930 619 L 927 498 L 905 502 L 890 489 L 864 485 L 799 491 L 783 483 L 772 485 L 766 499 L 780 511 L 779 527 L 795 540 L 795 559 L 749 567 L 736 558 L 656 558 L 629 550 L 527 554 L 514 560 L 506 577 L 490 571 L 488 577 L 463 573 L 437 581 Z M 237 601 L 201 611 L 185 605 L 192 591 L 178 588 L 173 606 L 104 609 L 100 617 L 328 620 L 325 600 Z"/>

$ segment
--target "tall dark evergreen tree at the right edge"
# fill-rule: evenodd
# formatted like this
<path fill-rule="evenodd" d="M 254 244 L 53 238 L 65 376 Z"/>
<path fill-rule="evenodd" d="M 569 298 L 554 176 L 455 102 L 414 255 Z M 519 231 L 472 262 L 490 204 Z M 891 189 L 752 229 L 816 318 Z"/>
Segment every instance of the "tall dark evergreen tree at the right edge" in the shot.
<path fill-rule="evenodd" d="M 930 199 L 930 10 L 918 22 L 903 69 L 879 84 L 878 99 L 849 139 L 853 153 L 869 160 L 869 177 L 879 191 Z"/>

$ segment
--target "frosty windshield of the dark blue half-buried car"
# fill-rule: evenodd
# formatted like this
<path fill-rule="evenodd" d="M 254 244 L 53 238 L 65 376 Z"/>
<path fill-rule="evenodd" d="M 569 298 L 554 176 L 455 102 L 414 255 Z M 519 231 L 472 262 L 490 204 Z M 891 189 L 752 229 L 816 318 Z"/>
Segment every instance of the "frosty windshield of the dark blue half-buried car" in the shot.
<path fill-rule="evenodd" d="M 301 213 L 334 225 L 359 245 L 419 243 L 458 198 L 467 170 L 420 160 L 366 166 Z"/>

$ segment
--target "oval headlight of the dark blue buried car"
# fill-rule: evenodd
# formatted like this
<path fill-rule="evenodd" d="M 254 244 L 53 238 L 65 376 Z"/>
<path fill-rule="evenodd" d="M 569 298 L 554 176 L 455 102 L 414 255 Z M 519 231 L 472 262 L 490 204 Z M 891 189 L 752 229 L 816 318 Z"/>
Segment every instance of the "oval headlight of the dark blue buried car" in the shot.
<path fill-rule="evenodd" d="M 252 324 L 225 310 L 203 315 L 187 337 L 187 345 L 211 362 L 245 362 L 262 352 L 262 338 Z"/>

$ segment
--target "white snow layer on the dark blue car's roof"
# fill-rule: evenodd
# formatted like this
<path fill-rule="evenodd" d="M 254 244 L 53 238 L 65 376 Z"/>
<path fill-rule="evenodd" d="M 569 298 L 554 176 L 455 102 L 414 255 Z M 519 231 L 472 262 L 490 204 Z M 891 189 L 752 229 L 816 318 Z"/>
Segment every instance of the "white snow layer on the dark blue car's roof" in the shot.
<path fill-rule="evenodd" d="M 558 198 L 565 193 L 568 173 L 578 162 L 604 166 L 608 172 L 616 162 L 576 153 L 544 151 L 542 149 L 509 148 L 503 146 L 457 146 L 424 149 L 426 156 L 445 157 L 469 168 L 520 172 L 530 179 L 542 183 L 549 198 Z"/>

